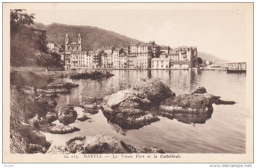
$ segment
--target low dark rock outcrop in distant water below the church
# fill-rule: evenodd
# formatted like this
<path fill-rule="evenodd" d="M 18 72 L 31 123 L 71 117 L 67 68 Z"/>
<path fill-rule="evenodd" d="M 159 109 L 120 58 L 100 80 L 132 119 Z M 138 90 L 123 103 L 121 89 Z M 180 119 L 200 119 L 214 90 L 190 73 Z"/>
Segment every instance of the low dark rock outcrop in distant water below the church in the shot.
<path fill-rule="evenodd" d="M 108 71 L 96 71 L 96 70 L 85 70 L 79 69 L 75 73 L 70 75 L 70 78 L 80 79 L 80 78 L 101 78 L 101 77 L 110 77 L 114 74 Z"/>

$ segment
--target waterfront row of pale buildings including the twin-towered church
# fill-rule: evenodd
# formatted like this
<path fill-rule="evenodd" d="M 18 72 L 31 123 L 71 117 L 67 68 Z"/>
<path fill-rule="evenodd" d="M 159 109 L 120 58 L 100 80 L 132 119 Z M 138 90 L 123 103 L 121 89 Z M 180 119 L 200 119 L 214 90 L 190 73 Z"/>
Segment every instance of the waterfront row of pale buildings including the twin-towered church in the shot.
<path fill-rule="evenodd" d="M 56 47 L 58 46 L 53 46 L 52 50 Z M 65 51 L 59 50 L 59 54 L 65 60 L 66 70 L 71 70 L 72 67 L 184 69 L 194 67 L 197 61 L 196 47 L 181 46 L 172 49 L 169 46 L 159 46 L 154 41 L 145 44 L 132 42 L 121 48 L 102 46 L 95 51 L 86 51 L 82 48 L 80 33 L 77 41 L 70 41 L 66 34 Z"/>

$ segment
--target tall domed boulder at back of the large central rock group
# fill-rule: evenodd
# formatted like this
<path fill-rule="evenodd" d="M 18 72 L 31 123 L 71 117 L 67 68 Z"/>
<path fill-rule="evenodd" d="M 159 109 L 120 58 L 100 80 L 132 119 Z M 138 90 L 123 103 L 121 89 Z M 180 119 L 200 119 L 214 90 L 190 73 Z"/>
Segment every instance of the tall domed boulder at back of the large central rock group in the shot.
<path fill-rule="evenodd" d="M 175 97 L 175 93 L 166 84 L 156 79 L 140 78 L 132 89 L 145 93 L 147 98 L 156 104 L 169 97 Z"/>

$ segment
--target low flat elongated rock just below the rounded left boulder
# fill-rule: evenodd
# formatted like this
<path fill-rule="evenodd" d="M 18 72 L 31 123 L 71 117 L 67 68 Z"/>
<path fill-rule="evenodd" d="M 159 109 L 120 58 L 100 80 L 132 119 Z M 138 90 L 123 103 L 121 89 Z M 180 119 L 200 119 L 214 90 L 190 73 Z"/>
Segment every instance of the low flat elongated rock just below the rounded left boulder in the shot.
<path fill-rule="evenodd" d="M 51 134 L 69 134 L 75 131 L 80 131 L 79 128 L 76 128 L 74 126 L 55 125 L 49 123 L 38 124 L 37 128 L 40 131 L 44 131 Z"/>

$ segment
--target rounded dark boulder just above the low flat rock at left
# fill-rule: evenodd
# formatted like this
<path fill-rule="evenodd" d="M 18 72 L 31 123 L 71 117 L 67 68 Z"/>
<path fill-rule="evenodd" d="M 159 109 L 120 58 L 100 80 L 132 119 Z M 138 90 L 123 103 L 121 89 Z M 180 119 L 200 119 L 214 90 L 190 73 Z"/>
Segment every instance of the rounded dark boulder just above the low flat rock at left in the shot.
<path fill-rule="evenodd" d="M 58 111 L 58 120 L 64 125 L 74 123 L 77 118 L 77 113 L 74 110 L 73 106 L 68 104 L 64 107 L 61 107 Z"/>

